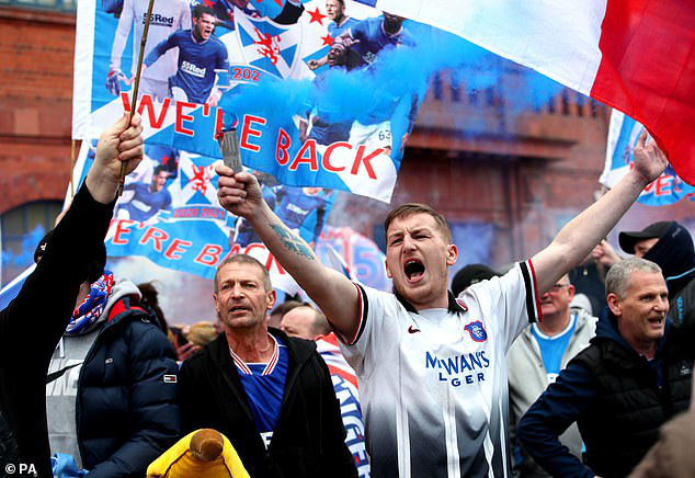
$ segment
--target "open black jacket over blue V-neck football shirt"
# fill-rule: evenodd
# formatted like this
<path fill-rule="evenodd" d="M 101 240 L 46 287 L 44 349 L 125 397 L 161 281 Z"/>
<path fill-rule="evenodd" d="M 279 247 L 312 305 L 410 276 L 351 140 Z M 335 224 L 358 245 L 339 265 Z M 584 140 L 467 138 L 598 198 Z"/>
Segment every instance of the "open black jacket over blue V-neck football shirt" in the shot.
<path fill-rule="evenodd" d="M 265 449 L 224 333 L 183 363 L 183 432 L 212 428 L 235 446 L 253 478 L 356 477 L 330 373 L 314 342 L 270 332 L 287 346 L 285 394 Z"/>

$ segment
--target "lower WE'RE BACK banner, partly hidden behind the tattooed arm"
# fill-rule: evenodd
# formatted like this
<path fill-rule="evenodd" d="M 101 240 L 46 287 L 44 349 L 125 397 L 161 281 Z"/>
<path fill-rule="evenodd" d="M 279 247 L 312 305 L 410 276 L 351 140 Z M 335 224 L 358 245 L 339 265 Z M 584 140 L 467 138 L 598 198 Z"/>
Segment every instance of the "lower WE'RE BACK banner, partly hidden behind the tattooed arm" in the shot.
<path fill-rule="evenodd" d="M 86 141 L 80 150 L 76 184 L 87 177 L 95 144 Z M 215 173 L 218 162 L 221 160 L 147 145 L 143 162 L 126 178 L 123 196 L 116 203 L 106 236 L 109 257 L 141 255 L 167 269 L 213 278 L 226 257 L 248 253 L 265 264 L 276 288 L 296 294 L 299 287 L 253 229 L 219 205 Z M 267 173 L 250 171 L 259 179 L 275 214 L 316 246 L 335 192 L 286 186 Z"/>

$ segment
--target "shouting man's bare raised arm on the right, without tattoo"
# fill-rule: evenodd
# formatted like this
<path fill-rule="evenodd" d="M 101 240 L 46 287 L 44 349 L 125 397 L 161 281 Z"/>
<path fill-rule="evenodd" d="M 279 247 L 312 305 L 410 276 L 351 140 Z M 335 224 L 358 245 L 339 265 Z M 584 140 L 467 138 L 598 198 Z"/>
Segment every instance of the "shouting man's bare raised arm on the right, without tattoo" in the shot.
<path fill-rule="evenodd" d="M 603 197 L 569 221 L 552 242 L 532 258 L 538 293 L 548 291 L 558 278 L 591 252 L 630 208 L 643 189 L 659 178 L 669 161 L 657 144 L 645 144 L 642 132 L 635 147 L 635 167 Z"/>

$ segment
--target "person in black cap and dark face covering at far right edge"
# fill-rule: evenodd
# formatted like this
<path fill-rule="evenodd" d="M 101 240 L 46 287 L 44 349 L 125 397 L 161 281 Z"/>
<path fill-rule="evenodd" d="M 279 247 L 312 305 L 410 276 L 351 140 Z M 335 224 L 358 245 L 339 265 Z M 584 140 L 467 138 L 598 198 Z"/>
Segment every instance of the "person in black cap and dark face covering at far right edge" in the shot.
<path fill-rule="evenodd" d="M 651 224 L 639 231 L 618 236 L 620 248 L 657 263 L 669 287 L 669 318 L 680 325 L 695 307 L 695 249 L 688 230 L 675 220 Z"/>

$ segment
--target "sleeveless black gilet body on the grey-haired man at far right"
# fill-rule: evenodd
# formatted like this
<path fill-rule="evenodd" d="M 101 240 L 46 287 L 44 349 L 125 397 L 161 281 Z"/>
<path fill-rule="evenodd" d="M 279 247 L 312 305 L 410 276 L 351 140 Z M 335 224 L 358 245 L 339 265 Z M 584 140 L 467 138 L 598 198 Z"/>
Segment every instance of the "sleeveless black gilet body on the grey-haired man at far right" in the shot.
<path fill-rule="evenodd" d="M 659 353 L 662 384 L 647 358 L 602 328 L 592 345 L 577 356 L 597 390 L 591 419 L 579 421 L 586 462 L 603 477 L 626 476 L 657 442 L 659 429 L 691 401 L 693 334 L 669 330 Z M 617 331 L 614 329 L 615 333 Z M 618 335 L 619 337 L 619 335 Z"/>

